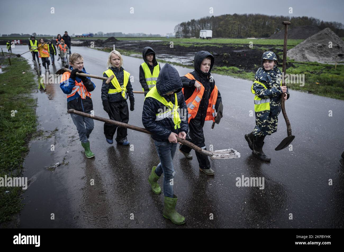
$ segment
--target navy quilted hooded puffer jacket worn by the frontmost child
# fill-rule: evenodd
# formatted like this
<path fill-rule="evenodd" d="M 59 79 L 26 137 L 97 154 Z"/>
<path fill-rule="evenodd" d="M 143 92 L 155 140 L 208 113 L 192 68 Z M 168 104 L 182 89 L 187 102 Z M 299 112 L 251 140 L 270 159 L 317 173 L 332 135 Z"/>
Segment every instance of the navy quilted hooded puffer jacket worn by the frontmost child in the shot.
<path fill-rule="evenodd" d="M 166 107 L 158 100 L 147 97 L 143 103 L 142 111 L 142 124 L 143 126 L 153 133 L 152 138 L 156 141 L 168 141 L 168 137 L 171 132 L 176 134 L 184 131 L 187 133 L 189 125 L 187 124 L 187 107 L 182 93 L 182 81 L 180 80 L 178 71 L 170 64 L 165 64 L 159 73 L 159 77 L 156 84 L 158 93 L 163 96 L 167 102 L 174 104 L 174 93 L 177 94 L 178 106 L 180 109 L 180 128 L 174 129 L 173 118 L 164 118 L 159 121 L 155 121 L 156 114 L 161 111 L 166 111 Z M 173 94 L 166 95 L 166 93 L 177 89 Z"/>

